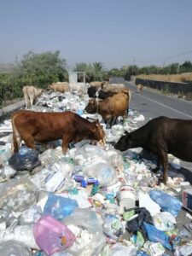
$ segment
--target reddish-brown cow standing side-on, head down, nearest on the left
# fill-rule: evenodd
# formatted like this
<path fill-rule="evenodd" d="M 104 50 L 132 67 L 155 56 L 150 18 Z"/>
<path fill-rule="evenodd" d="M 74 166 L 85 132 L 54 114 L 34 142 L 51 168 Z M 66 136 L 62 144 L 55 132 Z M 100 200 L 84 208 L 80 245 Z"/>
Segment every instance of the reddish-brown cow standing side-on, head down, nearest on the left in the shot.
<path fill-rule="evenodd" d="M 12 116 L 12 127 L 14 152 L 18 152 L 22 139 L 29 148 L 35 148 L 35 142 L 62 139 L 62 150 L 66 153 L 68 144 L 73 141 L 90 139 L 104 142 L 105 137 L 98 121 L 91 123 L 70 111 L 41 113 L 20 110 Z"/>

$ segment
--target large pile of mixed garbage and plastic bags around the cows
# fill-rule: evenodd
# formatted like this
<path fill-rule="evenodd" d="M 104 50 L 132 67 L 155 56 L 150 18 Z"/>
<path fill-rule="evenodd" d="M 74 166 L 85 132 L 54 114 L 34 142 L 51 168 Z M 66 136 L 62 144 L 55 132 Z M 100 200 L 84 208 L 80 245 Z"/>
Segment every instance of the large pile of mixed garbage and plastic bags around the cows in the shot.
<path fill-rule="evenodd" d="M 84 113 L 87 95 L 44 93 L 34 111 Z M 107 144 L 71 143 L 63 155 L 61 141 L 37 148 L 20 147 L 11 155 L 10 120 L 0 125 L 0 255 L 190 255 L 192 224 L 177 224 L 177 199 L 184 177 L 171 175 L 168 185 L 155 161 L 142 148 L 120 153 L 113 148 L 125 131 L 137 129 L 144 116 L 106 129 Z M 179 168 L 179 162 L 172 160 Z M 180 190 L 179 190 L 180 189 Z"/>

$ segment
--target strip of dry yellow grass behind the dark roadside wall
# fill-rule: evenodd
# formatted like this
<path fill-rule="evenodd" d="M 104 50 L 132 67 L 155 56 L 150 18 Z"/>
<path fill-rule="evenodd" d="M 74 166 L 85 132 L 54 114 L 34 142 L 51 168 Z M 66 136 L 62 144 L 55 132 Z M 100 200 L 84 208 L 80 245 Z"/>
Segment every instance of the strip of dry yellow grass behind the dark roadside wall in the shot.
<path fill-rule="evenodd" d="M 148 79 L 164 82 L 176 82 L 176 83 L 191 83 L 192 73 L 181 73 L 181 74 L 170 74 L 170 75 L 160 75 L 160 74 L 150 74 L 150 75 L 138 75 L 138 79 Z"/>

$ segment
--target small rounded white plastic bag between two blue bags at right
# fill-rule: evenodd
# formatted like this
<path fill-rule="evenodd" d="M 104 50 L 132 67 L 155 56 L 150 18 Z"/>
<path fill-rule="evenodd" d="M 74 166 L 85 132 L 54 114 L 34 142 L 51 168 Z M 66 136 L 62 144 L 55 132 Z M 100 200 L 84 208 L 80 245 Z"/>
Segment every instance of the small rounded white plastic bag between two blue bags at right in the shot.
<path fill-rule="evenodd" d="M 154 226 L 161 231 L 170 231 L 174 229 L 176 219 L 170 212 L 159 212 L 153 216 Z"/>

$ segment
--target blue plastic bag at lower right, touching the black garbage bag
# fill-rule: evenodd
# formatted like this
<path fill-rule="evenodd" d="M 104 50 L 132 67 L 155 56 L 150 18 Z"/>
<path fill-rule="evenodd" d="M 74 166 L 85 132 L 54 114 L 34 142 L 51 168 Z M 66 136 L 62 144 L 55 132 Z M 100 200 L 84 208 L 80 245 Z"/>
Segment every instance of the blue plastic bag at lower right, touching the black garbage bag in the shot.
<path fill-rule="evenodd" d="M 148 240 L 154 242 L 160 242 L 166 249 L 172 251 L 172 245 L 170 244 L 170 237 L 165 232 L 157 230 L 153 225 L 143 223 L 144 229 L 148 234 Z"/>

